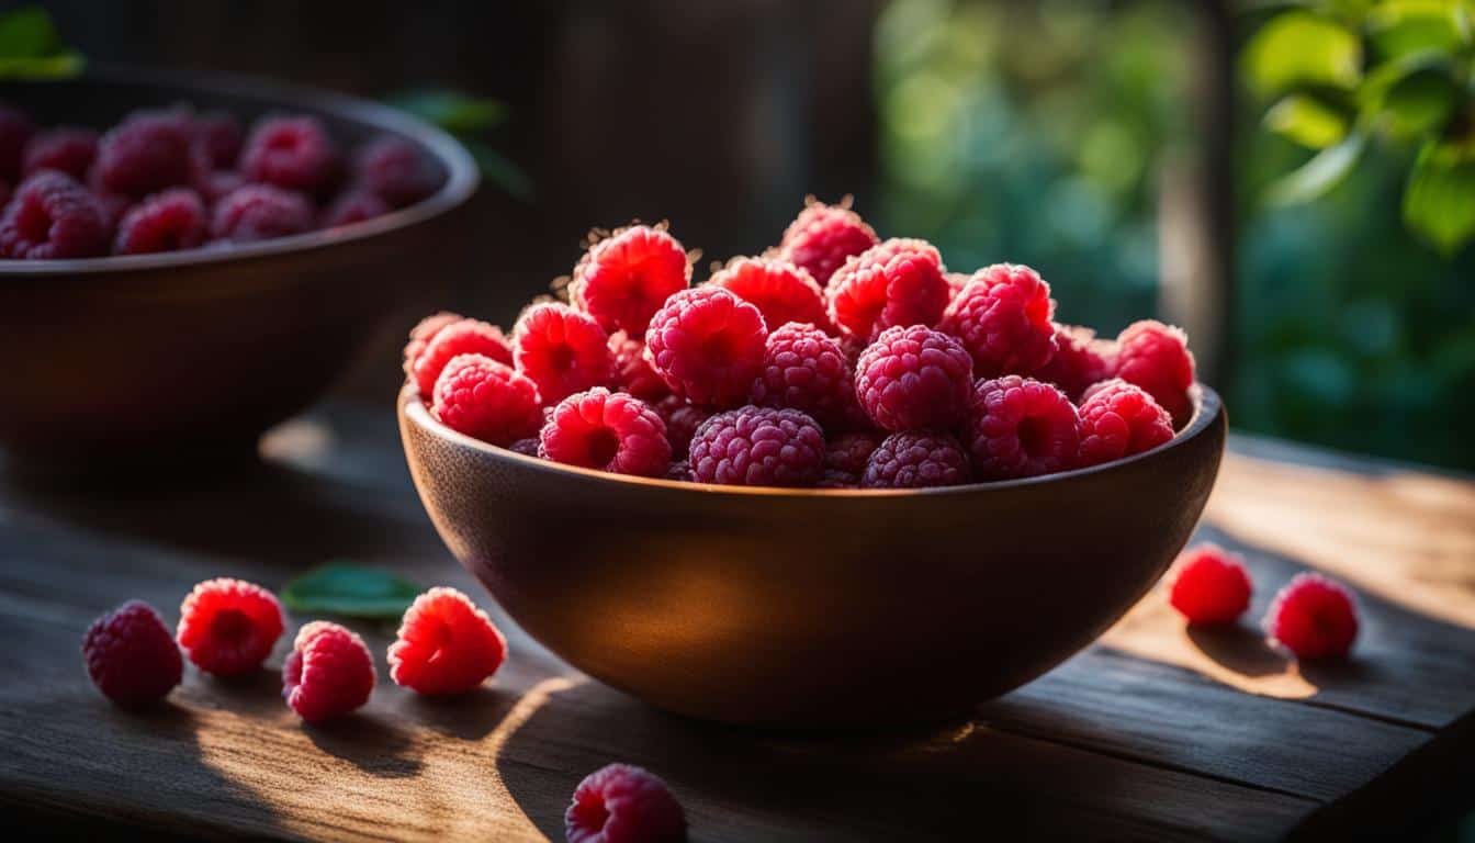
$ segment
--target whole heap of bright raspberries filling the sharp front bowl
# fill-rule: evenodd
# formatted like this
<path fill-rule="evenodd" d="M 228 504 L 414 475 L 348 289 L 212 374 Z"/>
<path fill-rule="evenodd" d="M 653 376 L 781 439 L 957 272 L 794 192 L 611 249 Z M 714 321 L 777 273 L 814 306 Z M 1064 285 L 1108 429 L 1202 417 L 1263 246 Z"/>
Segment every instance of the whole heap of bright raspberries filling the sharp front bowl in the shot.
<path fill-rule="evenodd" d="M 692 285 L 665 226 L 590 238 L 568 300 L 510 335 L 438 313 L 404 350 L 447 427 L 555 462 L 729 486 L 919 489 L 1156 447 L 1193 412 L 1183 331 L 1055 322 L 1032 269 L 950 273 L 810 201 L 782 242 Z"/>

